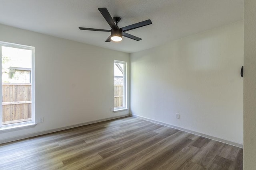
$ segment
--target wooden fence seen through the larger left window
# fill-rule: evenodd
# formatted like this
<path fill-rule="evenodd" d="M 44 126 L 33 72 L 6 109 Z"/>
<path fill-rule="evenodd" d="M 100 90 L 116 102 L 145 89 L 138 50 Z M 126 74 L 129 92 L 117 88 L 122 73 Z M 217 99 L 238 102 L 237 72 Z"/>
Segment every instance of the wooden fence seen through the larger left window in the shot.
<path fill-rule="evenodd" d="M 31 83 L 2 84 L 2 124 L 31 120 Z"/>

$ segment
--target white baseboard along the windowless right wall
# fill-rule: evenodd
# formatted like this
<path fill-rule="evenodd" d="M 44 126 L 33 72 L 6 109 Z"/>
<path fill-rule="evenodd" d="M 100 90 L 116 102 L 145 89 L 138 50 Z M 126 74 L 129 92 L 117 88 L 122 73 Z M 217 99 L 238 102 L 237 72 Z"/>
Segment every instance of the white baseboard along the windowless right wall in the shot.
<path fill-rule="evenodd" d="M 239 147 L 239 148 L 243 148 L 244 145 L 241 144 L 241 143 L 236 143 L 236 142 L 233 142 L 233 141 L 228 141 L 228 140 L 225 140 L 225 139 L 220 139 L 218 137 L 213 137 L 213 136 L 210 136 L 210 135 L 206 135 L 206 134 L 203 134 L 203 133 L 199 133 L 199 132 L 196 132 L 196 131 L 191 131 L 189 129 L 184 129 L 182 127 L 178 127 L 178 126 L 174 126 L 174 125 L 170 125 L 170 124 L 167 124 L 167 123 L 163 123 L 161 121 L 156 121 L 156 120 L 153 120 L 153 119 L 149 119 L 149 118 L 146 118 L 146 117 L 142 117 L 142 116 L 139 116 L 139 115 L 134 115 L 134 114 L 130 114 L 132 117 L 137 117 L 137 118 L 140 118 L 140 119 L 144 119 L 144 120 L 147 120 L 147 121 L 151 121 L 153 123 L 157 123 L 157 124 L 160 124 L 160 125 L 164 125 L 164 126 L 168 126 L 168 127 L 172 127 L 174 129 L 178 129 L 178 130 L 181 130 L 181 131 L 185 131 L 185 132 L 188 132 L 188 133 L 192 133 L 194 135 L 198 135 L 198 136 L 201 136 L 201 137 L 205 137 L 205 138 L 208 138 L 208 139 L 212 139 L 214 141 L 219 141 L 219 142 L 222 142 L 222 143 L 226 143 L 228 145 L 233 145 L 235 147 Z"/>

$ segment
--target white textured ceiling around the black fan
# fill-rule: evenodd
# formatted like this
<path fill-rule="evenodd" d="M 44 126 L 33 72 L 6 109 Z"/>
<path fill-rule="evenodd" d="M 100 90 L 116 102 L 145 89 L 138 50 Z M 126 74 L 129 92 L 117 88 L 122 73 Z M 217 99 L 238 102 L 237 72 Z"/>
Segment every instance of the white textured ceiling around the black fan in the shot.
<path fill-rule="evenodd" d="M 110 29 L 98 11 L 106 7 L 119 27 L 150 19 L 151 25 L 127 31 L 142 38 L 104 42 Z M 82 43 L 133 53 L 243 20 L 244 0 L 0 0 L 0 23 Z"/>

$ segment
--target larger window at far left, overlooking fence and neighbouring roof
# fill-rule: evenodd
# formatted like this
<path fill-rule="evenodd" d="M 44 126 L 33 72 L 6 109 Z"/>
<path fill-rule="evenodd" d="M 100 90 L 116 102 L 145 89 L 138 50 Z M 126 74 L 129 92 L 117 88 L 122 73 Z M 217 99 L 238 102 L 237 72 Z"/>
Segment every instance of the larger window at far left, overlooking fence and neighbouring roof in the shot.
<path fill-rule="evenodd" d="M 34 123 L 34 47 L 0 42 L 0 127 Z"/>

